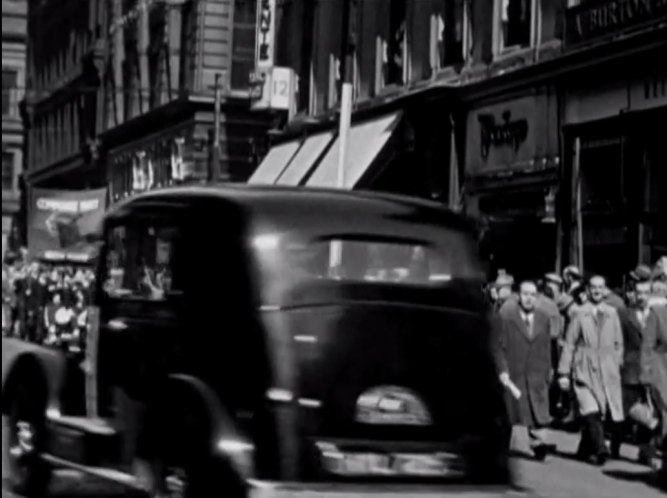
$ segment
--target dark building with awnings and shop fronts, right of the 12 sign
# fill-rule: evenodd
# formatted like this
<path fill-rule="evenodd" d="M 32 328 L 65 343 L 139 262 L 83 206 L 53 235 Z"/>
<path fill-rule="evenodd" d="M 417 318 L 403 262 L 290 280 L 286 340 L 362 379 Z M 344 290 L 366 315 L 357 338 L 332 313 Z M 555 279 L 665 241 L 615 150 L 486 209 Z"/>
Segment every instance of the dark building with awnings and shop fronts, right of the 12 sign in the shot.
<path fill-rule="evenodd" d="M 665 254 L 664 0 L 276 5 L 297 112 L 251 183 L 337 185 L 346 79 L 344 187 L 463 204 L 491 274 L 575 263 L 618 282 Z"/>

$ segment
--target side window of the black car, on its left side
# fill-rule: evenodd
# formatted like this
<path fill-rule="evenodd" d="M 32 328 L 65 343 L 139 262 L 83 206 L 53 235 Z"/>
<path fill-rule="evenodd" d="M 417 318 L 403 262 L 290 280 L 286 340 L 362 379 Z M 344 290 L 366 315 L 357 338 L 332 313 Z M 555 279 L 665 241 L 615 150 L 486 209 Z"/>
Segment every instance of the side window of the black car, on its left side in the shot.
<path fill-rule="evenodd" d="M 137 223 L 111 227 L 106 234 L 103 289 L 112 298 L 162 301 L 174 288 L 177 227 Z"/>

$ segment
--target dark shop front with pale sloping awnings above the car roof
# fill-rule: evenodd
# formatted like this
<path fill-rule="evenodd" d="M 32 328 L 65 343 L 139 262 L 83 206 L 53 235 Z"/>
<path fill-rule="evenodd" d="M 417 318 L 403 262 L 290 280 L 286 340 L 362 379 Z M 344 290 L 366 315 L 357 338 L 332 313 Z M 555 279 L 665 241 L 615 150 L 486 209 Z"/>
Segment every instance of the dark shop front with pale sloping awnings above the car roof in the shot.
<path fill-rule="evenodd" d="M 355 111 L 341 176 L 335 120 L 284 133 L 248 183 L 367 189 L 447 202 L 453 131 L 448 102 L 446 94 L 415 95 Z"/>

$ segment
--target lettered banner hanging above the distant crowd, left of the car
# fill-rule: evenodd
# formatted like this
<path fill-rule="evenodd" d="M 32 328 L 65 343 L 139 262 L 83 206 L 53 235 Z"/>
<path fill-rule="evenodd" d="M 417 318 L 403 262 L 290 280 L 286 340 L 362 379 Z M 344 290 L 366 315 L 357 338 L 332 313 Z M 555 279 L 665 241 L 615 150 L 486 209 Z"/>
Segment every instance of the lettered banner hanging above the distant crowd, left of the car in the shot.
<path fill-rule="evenodd" d="M 106 189 L 33 189 L 28 212 L 30 256 L 87 262 L 96 256 L 94 234 L 106 208 Z"/>

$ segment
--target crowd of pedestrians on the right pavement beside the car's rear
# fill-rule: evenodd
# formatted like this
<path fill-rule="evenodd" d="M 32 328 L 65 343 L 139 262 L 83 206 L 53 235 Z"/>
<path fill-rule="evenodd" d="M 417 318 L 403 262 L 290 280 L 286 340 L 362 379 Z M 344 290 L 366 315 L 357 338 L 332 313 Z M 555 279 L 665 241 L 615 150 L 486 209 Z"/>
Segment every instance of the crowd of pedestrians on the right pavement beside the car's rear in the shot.
<path fill-rule="evenodd" d="M 667 257 L 617 292 L 574 266 L 516 283 L 501 271 L 488 288 L 494 349 L 511 423 L 527 428 L 535 458 L 554 448 L 547 428 L 578 424 L 577 458 L 603 465 L 632 441 L 667 486 Z"/>

